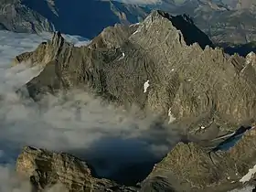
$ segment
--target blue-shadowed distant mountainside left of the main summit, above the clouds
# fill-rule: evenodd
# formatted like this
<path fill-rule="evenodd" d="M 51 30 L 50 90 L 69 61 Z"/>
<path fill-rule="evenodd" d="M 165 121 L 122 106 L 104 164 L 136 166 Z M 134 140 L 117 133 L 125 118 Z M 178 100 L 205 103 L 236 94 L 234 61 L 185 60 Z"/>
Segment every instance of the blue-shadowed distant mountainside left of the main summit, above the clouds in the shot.
<path fill-rule="evenodd" d="M 150 13 L 146 7 L 115 1 L 0 0 L 0 27 L 15 32 L 54 31 L 96 37 L 116 23 L 132 24 Z"/>

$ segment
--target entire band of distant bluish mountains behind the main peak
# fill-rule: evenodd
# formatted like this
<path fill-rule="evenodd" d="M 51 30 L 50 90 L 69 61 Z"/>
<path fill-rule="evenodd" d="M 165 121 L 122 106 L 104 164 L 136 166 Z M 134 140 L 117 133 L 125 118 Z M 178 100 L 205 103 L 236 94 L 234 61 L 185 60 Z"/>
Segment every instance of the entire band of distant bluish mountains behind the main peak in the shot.
<path fill-rule="evenodd" d="M 59 30 L 93 38 L 116 23 L 133 24 L 151 10 L 187 14 L 214 43 L 248 44 L 256 41 L 255 0 L 163 0 L 153 5 L 117 1 L 0 0 L 0 29 L 39 33 Z"/>

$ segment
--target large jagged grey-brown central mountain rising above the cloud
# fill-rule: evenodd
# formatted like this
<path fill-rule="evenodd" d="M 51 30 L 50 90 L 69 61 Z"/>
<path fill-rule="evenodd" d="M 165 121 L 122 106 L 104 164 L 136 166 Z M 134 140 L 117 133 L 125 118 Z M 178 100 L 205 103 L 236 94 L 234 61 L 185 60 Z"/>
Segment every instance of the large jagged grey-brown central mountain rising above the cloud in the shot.
<path fill-rule="evenodd" d="M 37 93 L 86 87 L 121 105 L 186 119 L 188 130 L 254 122 L 255 54 L 229 56 L 211 44 L 187 16 L 155 11 L 139 25 L 104 30 L 88 47 L 75 48 L 56 33 L 16 62 L 46 66 L 27 83 L 36 100 Z"/>

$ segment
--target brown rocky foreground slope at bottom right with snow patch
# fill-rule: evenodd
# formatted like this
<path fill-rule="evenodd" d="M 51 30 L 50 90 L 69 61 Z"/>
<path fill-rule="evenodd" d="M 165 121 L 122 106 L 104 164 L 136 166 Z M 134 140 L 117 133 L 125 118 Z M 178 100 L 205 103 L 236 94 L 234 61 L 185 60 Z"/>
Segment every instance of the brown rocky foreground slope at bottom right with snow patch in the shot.
<path fill-rule="evenodd" d="M 228 151 L 211 154 L 198 144 L 177 144 L 155 165 L 142 191 L 168 191 L 171 187 L 174 191 L 227 192 L 245 184 L 255 185 L 255 136 L 252 129 Z"/>

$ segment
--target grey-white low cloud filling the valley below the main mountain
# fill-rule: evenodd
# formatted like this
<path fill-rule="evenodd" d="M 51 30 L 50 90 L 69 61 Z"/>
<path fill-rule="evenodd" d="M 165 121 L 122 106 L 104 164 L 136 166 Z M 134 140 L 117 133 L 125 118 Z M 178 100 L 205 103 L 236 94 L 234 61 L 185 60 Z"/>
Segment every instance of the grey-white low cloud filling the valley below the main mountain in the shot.
<path fill-rule="evenodd" d="M 29 184 L 14 171 L 24 145 L 78 155 L 101 176 L 165 155 L 178 136 L 165 125 L 156 126 L 150 114 L 141 118 L 135 107 L 125 112 L 80 90 L 48 95 L 39 103 L 16 95 L 41 69 L 27 69 L 25 64 L 10 68 L 11 60 L 50 37 L 0 31 L 0 192 L 29 191 Z M 88 43 L 81 37 L 64 37 L 76 46 Z"/>

